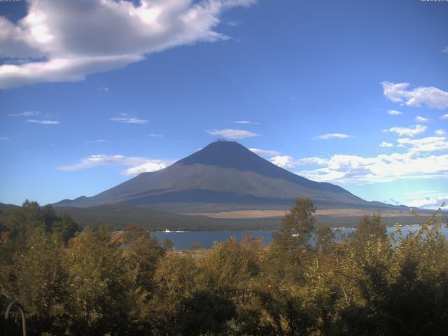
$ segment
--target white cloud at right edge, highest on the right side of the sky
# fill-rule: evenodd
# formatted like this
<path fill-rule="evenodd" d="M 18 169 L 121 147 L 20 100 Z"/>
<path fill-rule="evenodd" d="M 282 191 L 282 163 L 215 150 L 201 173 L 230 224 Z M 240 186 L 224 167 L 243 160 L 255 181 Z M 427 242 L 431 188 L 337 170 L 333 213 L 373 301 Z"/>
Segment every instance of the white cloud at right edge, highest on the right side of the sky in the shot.
<path fill-rule="evenodd" d="M 408 90 L 409 83 L 381 82 L 384 95 L 395 103 L 407 106 L 428 106 L 434 109 L 448 109 L 448 92 L 437 87 L 416 87 Z"/>

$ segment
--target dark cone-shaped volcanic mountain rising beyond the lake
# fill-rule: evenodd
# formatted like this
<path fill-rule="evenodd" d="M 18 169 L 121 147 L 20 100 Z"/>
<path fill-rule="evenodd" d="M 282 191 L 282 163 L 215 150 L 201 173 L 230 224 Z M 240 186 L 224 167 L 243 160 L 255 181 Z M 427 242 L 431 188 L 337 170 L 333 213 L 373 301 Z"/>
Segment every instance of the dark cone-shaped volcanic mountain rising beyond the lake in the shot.
<path fill-rule="evenodd" d="M 143 173 L 93 197 L 55 206 L 162 203 L 287 204 L 310 197 L 329 207 L 388 207 L 366 202 L 331 183 L 297 176 L 233 141 L 216 141 L 158 172 Z"/>

